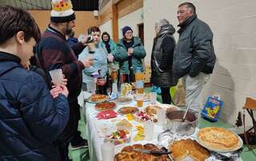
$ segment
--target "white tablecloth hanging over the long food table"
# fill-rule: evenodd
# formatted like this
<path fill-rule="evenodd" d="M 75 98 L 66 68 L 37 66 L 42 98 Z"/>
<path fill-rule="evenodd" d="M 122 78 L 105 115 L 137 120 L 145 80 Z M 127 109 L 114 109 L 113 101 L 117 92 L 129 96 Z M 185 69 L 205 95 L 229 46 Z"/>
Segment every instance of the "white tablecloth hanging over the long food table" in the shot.
<path fill-rule="evenodd" d="M 90 94 L 88 92 L 83 92 L 83 96 L 84 96 L 84 98 L 87 98 L 88 96 L 90 96 Z M 90 160 L 91 161 L 94 161 L 94 160 L 102 161 L 101 145 L 104 141 L 104 137 L 102 137 L 102 132 L 99 132 L 101 124 L 103 126 L 107 126 L 107 125 L 111 126 L 111 124 L 112 124 L 112 126 L 113 126 L 114 123 L 118 122 L 117 120 L 122 120 L 126 117 L 118 115 L 118 117 L 116 117 L 114 119 L 110 119 L 110 120 L 97 120 L 94 117 L 98 113 L 94 109 L 95 104 L 90 104 L 87 102 L 85 104 L 83 104 L 82 97 L 80 98 L 80 100 L 78 102 L 85 110 L 86 132 L 87 132 L 88 142 L 89 142 L 89 147 L 90 147 Z M 118 111 L 118 109 L 122 108 L 123 106 L 134 106 L 135 104 L 136 104 L 135 101 L 133 101 L 130 104 L 117 104 L 118 107 L 115 109 L 115 111 Z M 149 104 L 148 102 L 144 102 L 142 108 L 145 108 L 148 104 Z M 133 120 L 132 124 L 139 124 L 139 123 Z M 119 144 L 119 145 L 115 146 L 115 149 L 114 149 L 115 154 L 118 153 L 119 151 L 121 151 L 122 147 L 126 147 L 127 145 L 134 144 L 134 143 L 142 143 L 142 144 L 155 143 L 155 144 L 157 144 L 158 143 L 158 134 L 160 134 L 161 132 L 163 132 L 162 126 L 155 124 L 153 140 L 150 140 L 150 141 L 143 140 L 143 141 L 137 141 L 137 142 L 134 142 L 134 140 L 132 140 L 130 143 Z M 133 132 L 132 136 L 134 134 L 136 134 L 136 132 Z M 132 139 L 134 139 L 134 138 L 132 137 Z"/>

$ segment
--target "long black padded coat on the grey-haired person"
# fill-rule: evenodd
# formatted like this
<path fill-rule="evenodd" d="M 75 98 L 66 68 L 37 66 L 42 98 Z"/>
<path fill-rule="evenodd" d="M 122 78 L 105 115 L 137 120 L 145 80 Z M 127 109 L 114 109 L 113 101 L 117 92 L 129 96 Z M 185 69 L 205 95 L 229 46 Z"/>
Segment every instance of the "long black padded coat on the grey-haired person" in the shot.
<path fill-rule="evenodd" d="M 174 84 L 172 79 L 173 53 L 175 48 L 174 26 L 162 26 L 151 53 L 151 83 L 168 88 Z"/>

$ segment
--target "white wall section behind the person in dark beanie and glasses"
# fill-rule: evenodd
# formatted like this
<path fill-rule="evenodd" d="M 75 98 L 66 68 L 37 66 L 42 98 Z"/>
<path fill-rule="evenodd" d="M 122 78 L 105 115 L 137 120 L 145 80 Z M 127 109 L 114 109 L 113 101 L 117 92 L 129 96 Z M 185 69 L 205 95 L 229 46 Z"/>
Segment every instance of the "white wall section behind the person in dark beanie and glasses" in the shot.
<path fill-rule="evenodd" d="M 118 37 L 122 38 L 122 27 L 130 26 L 134 31 L 134 36 L 138 37 L 138 24 L 143 22 L 143 8 L 135 10 L 122 18 L 118 19 Z"/>

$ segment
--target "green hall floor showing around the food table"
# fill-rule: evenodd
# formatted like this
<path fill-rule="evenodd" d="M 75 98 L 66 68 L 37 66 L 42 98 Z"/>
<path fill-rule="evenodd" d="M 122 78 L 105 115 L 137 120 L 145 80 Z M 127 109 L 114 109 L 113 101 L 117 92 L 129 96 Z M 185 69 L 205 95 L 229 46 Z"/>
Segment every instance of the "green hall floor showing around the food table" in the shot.
<path fill-rule="evenodd" d="M 162 102 L 161 96 L 158 96 L 158 101 Z M 82 137 L 86 138 L 86 133 L 85 133 L 86 127 L 83 120 L 84 117 L 81 116 L 81 118 L 82 119 L 79 121 L 78 129 L 81 132 Z M 211 123 L 210 121 L 201 119 L 199 124 L 200 124 L 200 128 L 205 128 L 205 127 L 232 128 L 229 124 L 226 124 L 222 120 L 218 120 L 218 122 L 216 123 Z M 76 151 L 70 150 L 69 156 L 70 156 L 70 159 L 73 159 L 73 161 L 90 160 L 89 150 L 86 148 L 76 150 Z M 241 157 L 244 161 L 256 161 L 256 148 L 254 149 L 254 151 L 249 151 L 247 147 L 244 147 Z"/>

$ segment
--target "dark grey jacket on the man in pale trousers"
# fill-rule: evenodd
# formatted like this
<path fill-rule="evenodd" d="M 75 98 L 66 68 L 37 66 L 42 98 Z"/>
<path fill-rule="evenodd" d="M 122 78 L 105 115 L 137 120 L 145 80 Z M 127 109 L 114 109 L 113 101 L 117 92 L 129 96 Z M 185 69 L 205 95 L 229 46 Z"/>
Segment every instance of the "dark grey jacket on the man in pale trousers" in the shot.
<path fill-rule="evenodd" d="M 179 38 L 174 51 L 174 76 L 196 77 L 200 72 L 212 73 L 216 56 L 210 27 L 195 14 L 179 25 Z"/>

